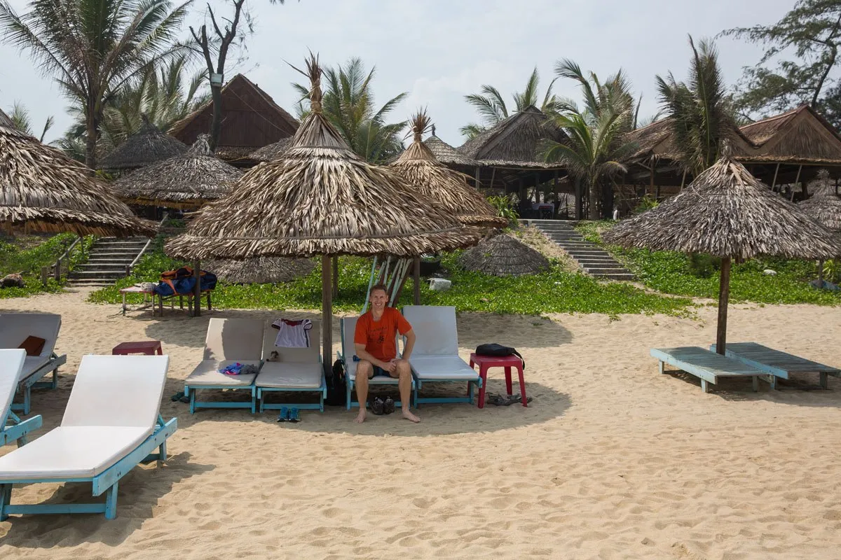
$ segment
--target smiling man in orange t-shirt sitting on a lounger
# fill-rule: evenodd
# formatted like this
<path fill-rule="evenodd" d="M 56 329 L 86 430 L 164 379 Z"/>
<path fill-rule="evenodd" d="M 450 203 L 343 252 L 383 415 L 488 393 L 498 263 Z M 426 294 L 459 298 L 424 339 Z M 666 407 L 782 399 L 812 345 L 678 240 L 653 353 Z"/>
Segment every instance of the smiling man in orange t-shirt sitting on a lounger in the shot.
<path fill-rule="evenodd" d="M 403 417 L 419 422 L 421 419 L 409 409 L 412 390 L 412 370 L 409 357 L 415 346 L 415 332 L 403 315 L 394 307 L 387 307 L 389 296 L 386 287 L 378 284 L 371 288 L 371 311 L 362 314 L 353 333 L 353 343 L 359 358 L 357 364 L 357 400 L 359 416 L 356 421 L 365 421 L 365 406 L 368 403 L 368 379 L 374 375 L 389 375 L 398 379 Z M 397 358 L 397 333 L 406 338 L 402 359 Z"/>

